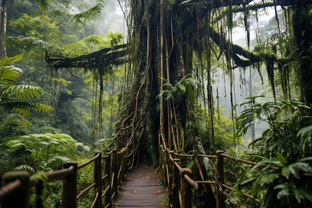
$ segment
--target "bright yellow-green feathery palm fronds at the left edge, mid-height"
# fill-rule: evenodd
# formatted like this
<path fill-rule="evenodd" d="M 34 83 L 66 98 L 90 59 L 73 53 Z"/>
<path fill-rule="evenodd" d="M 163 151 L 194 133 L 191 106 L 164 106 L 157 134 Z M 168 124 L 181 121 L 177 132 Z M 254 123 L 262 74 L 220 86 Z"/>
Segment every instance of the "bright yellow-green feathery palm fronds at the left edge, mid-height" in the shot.
<path fill-rule="evenodd" d="M 39 112 L 51 112 L 53 107 L 31 101 L 31 98 L 39 98 L 41 87 L 31 85 L 16 85 L 21 69 L 9 66 L 21 60 L 21 56 L 13 58 L 0 58 L 0 107 L 3 110 L 15 111 L 19 114 L 28 116 L 31 110 Z"/>

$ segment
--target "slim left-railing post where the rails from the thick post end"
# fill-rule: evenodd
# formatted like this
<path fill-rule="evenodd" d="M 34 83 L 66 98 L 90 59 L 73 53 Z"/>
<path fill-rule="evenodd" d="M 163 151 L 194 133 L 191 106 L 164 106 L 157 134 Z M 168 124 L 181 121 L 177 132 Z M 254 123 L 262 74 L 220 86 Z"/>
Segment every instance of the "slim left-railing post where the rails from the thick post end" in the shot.
<path fill-rule="evenodd" d="M 98 193 L 98 198 L 96 199 L 96 204 L 94 207 L 102 208 L 102 153 L 96 151 L 95 156 L 98 158 L 94 161 L 94 199 L 96 198 L 96 193 Z"/>

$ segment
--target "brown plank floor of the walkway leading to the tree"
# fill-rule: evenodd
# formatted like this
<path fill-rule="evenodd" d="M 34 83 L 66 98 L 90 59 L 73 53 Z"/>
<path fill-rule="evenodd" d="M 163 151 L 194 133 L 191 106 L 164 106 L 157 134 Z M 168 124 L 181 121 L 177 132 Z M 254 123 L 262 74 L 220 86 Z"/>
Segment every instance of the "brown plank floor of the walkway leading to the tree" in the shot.
<path fill-rule="evenodd" d="M 114 200 L 114 207 L 121 208 L 156 208 L 166 207 L 166 193 L 160 184 L 155 170 L 148 166 L 135 168 L 118 191 L 119 196 Z"/>

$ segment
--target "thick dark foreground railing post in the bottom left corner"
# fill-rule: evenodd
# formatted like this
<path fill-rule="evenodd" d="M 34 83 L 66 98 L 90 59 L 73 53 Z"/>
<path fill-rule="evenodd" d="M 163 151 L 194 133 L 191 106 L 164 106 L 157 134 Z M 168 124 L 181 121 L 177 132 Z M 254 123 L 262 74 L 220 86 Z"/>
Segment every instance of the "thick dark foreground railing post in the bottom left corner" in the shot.
<path fill-rule="evenodd" d="M 10 184 L 15 180 L 21 182 L 21 187 L 12 192 L 4 201 L 1 201 L 3 208 L 27 208 L 28 207 L 28 188 L 29 175 L 26 171 L 16 171 L 4 173 L 2 175 L 1 185 Z"/>

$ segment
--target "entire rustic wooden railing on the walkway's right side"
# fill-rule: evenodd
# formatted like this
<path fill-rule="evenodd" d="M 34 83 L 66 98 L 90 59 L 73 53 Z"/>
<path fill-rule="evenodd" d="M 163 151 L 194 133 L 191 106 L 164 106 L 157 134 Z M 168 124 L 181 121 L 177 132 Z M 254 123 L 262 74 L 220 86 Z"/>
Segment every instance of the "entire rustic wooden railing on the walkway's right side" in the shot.
<path fill-rule="evenodd" d="M 194 158 L 198 157 L 207 157 L 209 159 L 216 159 L 216 180 L 205 180 L 204 171 L 200 166 L 198 172 L 200 173 L 200 180 L 197 180 L 193 177 L 193 173 L 189 168 L 182 168 L 180 159 L 182 157 L 191 157 L 193 162 Z M 191 208 L 192 207 L 192 196 L 193 190 L 198 190 L 199 184 L 205 186 L 205 184 L 214 184 L 215 186 L 215 198 L 216 198 L 216 207 L 224 208 L 225 207 L 225 197 L 232 198 L 229 194 L 225 193 L 224 189 L 229 189 L 230 191 L 236 191 L 232 187 L 229 187 L 225 184 L 224 180 L 224 162 L 223 159 L 232 159 L 236 162 L 243 162 L 245 164 L 255 165 L 256 163 L 250 162 L 245 159 L 237 159 L 236 157 L 226 155 L 223 151 L 216 151 L 216 155 L 184 155 L 177 154 L 173 150 L 166 148 L 164 141 L 159 148 L 159 169 L 162 172 L 161 177 L 162 181 L 168 189 L 168 199 L 171 204 L 170 207 L 182 207 L 182 208 Z M 262 164 L 261 166 L 266 166 Z M 272 169 L 279 170 L 277 167 L 271 167 Z M 311 173 L 303 173 L 305 176 L 312 176 Z M 192 179 L 193 177 L 193 179 Z M 254 200 L 254 202 L 259 203 L 257 198 L 249 195 L 248 193 L 241 193 L 242 196 Z M 234 203 L 238 206 L 239 202 L 234 200 Z"/>

